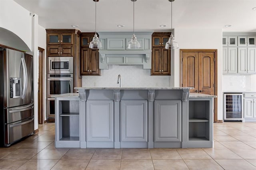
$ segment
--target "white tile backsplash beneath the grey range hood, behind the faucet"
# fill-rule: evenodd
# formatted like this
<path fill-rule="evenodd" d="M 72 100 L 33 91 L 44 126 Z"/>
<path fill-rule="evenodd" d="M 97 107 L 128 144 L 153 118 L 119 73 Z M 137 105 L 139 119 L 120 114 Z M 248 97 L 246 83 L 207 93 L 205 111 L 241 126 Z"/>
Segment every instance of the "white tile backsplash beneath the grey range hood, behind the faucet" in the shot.
<path fill-rule="evenodd" d="M 82 87 L 119 87 L 119 74 L 122 87 L 169 87 L 170 84 L 170 76 L 151 76 L 150 69 L 142 69 L 142 65 L 109 65 L 108 70 L 101 70 L 101 76 L 82 76 Z"/>

